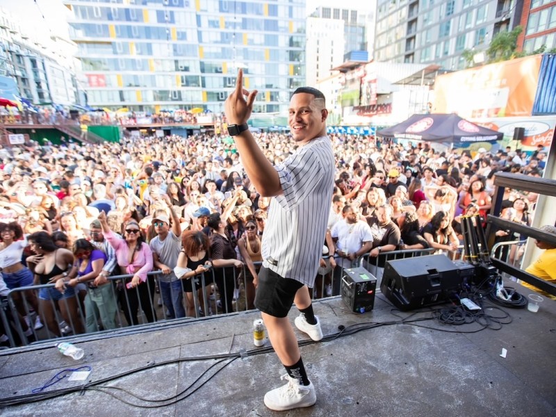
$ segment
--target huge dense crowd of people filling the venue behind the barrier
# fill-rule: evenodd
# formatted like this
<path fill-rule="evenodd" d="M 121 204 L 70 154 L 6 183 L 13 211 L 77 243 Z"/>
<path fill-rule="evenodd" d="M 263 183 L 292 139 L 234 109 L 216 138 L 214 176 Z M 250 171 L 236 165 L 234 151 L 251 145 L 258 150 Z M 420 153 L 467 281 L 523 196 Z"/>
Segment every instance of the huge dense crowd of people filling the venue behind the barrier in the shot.
<path fill-rule="evenodd" d="M 546 163 L 540 146 L 532 154 L 441 152 L 424 142 L 330 139 L 336 179 L 313 297 L 337 295 L 342 268 L 361 256 L 380 275 L 385 252 L 457 254 L 461 215 L 485 218 L 493 175 L 541 177 Z M 286 134 L 257 133 L 256 141 L 274 165 L 295 151 Z M 167 318 L 237 310 L 239 290 L 245 308 L 254 308 L 270 198 L 247 179 L 226 136 L 31 142 L 0 154 L 0 296 L 42 285 L 15 298 L 13 319 L 25 336 L 43 324 L 54 336 L 64 327 L 76 334 L 114 329 L 119 310 L 128 325 L 139 323 L 140 311 L 153 322 L 156 292 Z M 531 224 L 536 202 L 534 193 L 507 190 L 501 215 Z M 497 241 L 518 239 L 496 231 Z M 518 261 L 517 245 L 508 256 Z M 154 270 L 158 275 L 149 274 Z M 109 279 L 115 275 L 125 278 Z M 217 311 L 206 302 L 214 291 Z M 31 320 L 29 311 L 40 314 Z"/>

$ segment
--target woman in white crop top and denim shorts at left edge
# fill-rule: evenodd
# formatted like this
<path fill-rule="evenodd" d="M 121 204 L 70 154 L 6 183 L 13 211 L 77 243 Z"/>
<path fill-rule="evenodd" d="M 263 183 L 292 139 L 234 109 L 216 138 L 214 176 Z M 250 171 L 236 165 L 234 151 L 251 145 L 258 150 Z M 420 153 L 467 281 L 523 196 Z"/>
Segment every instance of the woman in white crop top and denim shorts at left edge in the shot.
<path fill-rule="evenodd" d="M 22 227 L 17 222 L 0 223 L 0 271 L 4 282 L 10 290 L 23 286 L 33 285 L 33 272 L 22 264 L 23 250 L 27 246 L 27 239 L 23 234 Z M 21 293 L 14 293 L 19 295 Z M 35 311 L 39 311 L 37 296 L 33 290 L 23 293 L 25 300 Z M 14 297 L 17 311 L 22 316 L 26 315 L 26 309 L 21 297 Z M 40 329 L 42 323 L 39 316 L 35 321 L 35 329 Z"/>

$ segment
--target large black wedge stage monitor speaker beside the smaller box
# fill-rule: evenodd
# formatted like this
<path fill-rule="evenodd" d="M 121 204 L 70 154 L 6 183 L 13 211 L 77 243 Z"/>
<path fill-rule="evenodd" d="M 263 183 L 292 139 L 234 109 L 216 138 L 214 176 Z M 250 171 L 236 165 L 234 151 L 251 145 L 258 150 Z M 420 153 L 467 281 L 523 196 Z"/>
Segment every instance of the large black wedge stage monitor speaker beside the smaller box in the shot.
<path fill-rule="evenodd" d="M 445 255 L 386 262 L 380 290 L 402 311 L 439 304 L 461 289 L 460 268 Z"/>

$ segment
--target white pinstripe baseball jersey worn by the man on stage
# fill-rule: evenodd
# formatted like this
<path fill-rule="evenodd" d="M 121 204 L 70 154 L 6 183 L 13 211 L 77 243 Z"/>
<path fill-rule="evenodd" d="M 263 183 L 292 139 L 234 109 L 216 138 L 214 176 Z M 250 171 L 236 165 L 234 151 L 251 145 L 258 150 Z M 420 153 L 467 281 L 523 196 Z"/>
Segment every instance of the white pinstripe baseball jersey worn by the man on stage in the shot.
<path fill-rule="evenodd" d="M 275 166 L 283 194 L 272 198 L 262 243 L 263 265 L 312 287 L 325 242 L 334 152 L 328 136 L 311 140 Z"/>

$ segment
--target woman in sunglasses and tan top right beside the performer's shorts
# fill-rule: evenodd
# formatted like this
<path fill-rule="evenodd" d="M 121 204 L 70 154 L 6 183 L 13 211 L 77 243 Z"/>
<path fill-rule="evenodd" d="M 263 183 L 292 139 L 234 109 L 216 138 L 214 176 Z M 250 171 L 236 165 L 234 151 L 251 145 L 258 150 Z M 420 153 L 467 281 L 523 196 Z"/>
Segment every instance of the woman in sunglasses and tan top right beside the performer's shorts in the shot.
<path fill-rule="evenodd" d="M 245 223 L 245 235 L 238 240 L 238 248 L 241 258 L 247 266 L 245 271 L 245 297 L 247 298 L 247 309 L 255 308 L 255 287 L 259 277 L 257 273 L 261 269 L 263 255 L 261 254 L 261 238 L 257 236 L 257 227 L 254 218 Z M 259 262 L 254 265 L 253 262 Z"/>

